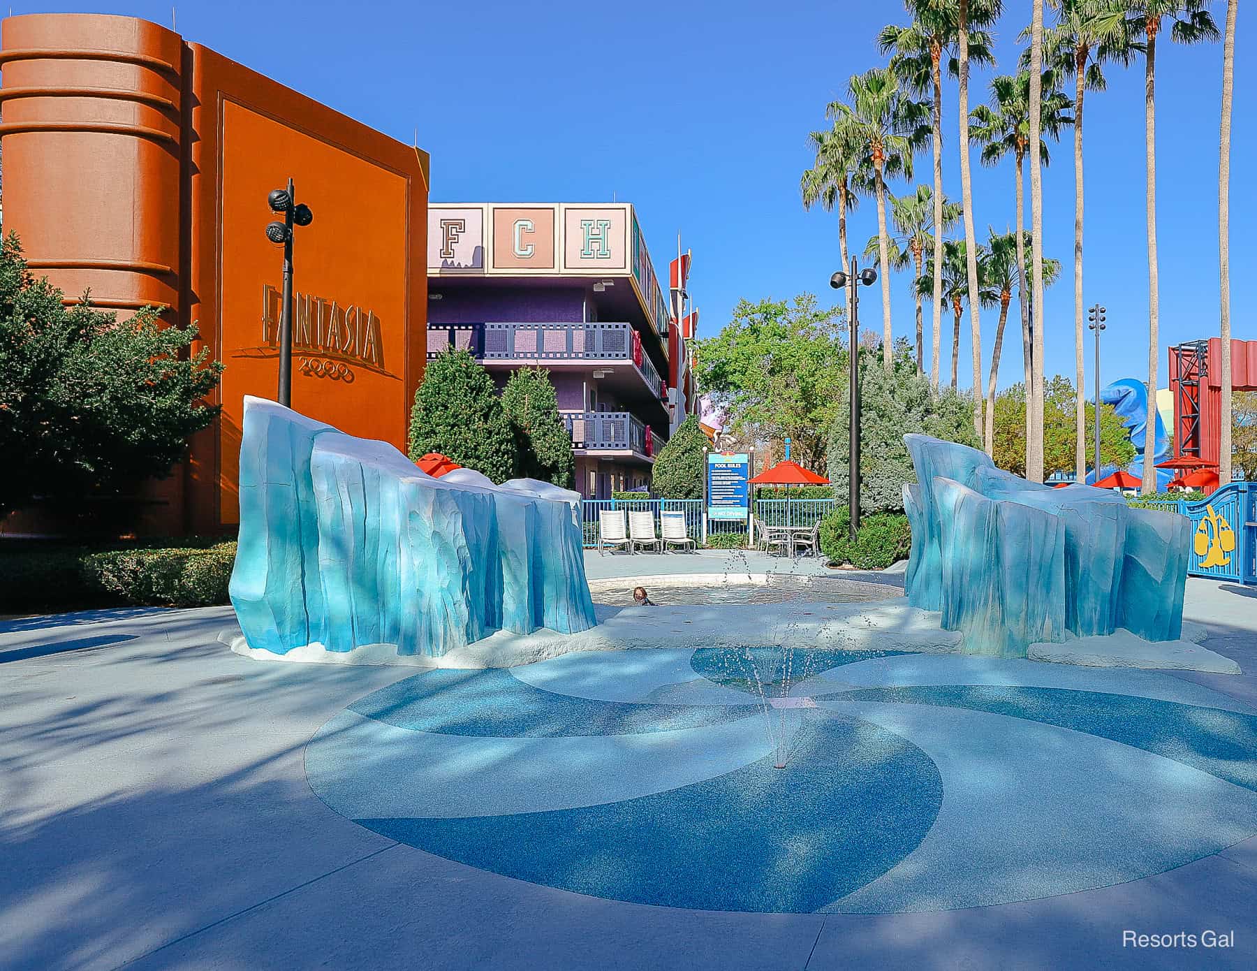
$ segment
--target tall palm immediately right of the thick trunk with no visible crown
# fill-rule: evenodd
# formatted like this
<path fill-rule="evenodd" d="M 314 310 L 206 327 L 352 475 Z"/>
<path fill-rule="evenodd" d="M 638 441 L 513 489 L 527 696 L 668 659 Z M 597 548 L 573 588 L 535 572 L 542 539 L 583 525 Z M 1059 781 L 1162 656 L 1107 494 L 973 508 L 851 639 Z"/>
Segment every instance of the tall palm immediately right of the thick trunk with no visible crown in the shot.
<path fill-rule="evenodd" d="M 1073 462 L 1079 482 L 1087 472 L 1082 356 L 1082 101 L 1087 91 L 1104 91 L 1101 65 L 1115 55 L 1112 45 L 1096 34 L 1095 19 L 1115 10 L 1120 1 L 1050 0 L 1056 8 L 1056 24 L 1043 35 L 1043 59 L 1048 70 L 1060 77 L 1073 75 Z"/>

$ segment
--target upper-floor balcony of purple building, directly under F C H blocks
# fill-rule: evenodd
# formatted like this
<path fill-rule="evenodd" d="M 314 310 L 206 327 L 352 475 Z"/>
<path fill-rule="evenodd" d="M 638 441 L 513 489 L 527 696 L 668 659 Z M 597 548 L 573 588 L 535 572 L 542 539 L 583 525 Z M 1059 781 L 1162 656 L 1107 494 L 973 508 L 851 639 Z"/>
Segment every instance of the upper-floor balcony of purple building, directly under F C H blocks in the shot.
<path fill-rule="evenodd" d="M 627 323 L 430 323 L 427 357 L 447 347 L 469 351 L 486 367 L 548 367 L 595 371 L 632 400 L 667 400 L 641 335 Z"/>

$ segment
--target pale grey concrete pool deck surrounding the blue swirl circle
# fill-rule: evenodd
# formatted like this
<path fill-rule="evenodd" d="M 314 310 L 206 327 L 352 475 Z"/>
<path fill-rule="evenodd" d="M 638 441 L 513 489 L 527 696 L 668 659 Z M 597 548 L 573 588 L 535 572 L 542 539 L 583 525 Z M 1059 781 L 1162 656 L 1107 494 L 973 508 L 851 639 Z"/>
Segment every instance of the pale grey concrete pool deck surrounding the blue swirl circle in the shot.
<path fill-rule="evenodd" d="M 591 579 L 729 570 L 901 582 L 740 552 L 586 563 Z M 1189 580 L 1184 613 L 1246 673 L 1166 677 L 1257 706 L 1257 589 Z M 254 662 L 217 640 L 231 623 L 229 608 L 0 621 L 6 971 L 1257 963 L 1257 838 L 1101 889 L 864 916 L 627 904 L 434 857 L 337 815 L 304 771 L 321 726 L 414 669 Z M 1233 932 L 1234 946 L 1123 947 L 1124 931 L 1205 929 Z"/>

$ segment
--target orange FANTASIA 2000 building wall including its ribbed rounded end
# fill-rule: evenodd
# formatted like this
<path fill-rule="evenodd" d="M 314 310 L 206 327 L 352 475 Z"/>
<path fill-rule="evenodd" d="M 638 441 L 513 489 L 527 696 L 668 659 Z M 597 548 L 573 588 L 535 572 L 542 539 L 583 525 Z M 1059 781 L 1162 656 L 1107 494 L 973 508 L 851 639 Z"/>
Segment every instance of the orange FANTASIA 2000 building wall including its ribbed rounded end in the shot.
<path fill-rule="evenodd" d="M 293 406 L 405 447 L 426 356 L 425 152 L 133 18 L 9 18 L 0 64 L 4 223 L 31 268 L 99 307 L 167 304 L 226 365 L 222 418 L 155 487 L 151 531 L 238 518 L 241 401 L 277 394 L 282 248 L 263 229 L 289 176 L 314 213 L 294 291 L 324 321 L 294 348 Z"/>

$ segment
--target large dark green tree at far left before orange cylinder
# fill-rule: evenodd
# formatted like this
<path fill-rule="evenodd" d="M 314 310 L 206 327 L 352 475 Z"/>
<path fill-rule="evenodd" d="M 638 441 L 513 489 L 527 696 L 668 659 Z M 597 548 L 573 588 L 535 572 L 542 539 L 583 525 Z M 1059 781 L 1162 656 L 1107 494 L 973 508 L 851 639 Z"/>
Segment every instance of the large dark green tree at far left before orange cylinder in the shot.
<path fill-rule="evenodd" d="M 163 477 L 217 415 L 204 399 L 222 366 L 189 353 L 194 327 L 161 307 L 129 321 L 67 307 L 36 279 L 18 236 L 0 244 L 0 517 L 36 497 L 75 501 Z"/>

